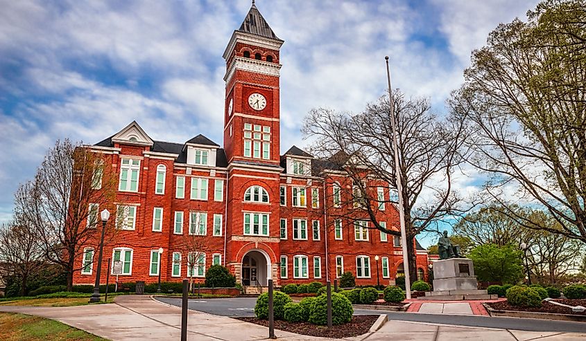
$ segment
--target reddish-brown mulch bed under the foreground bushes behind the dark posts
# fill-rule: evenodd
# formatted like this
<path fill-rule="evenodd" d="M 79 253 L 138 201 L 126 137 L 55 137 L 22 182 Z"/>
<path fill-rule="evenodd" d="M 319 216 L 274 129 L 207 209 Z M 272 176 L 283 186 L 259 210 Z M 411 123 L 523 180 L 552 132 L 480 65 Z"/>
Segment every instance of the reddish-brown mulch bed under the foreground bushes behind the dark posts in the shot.
<path fill-rule="evenodd" d="M 259 320 L 257 317 L 236 317 L 238 320 L 268 326 L 268 320 Z M 288 331 L 302 335 L 319 336 L 322 338 L 350 338 L 353 336 L 368 333 L 374 321 L 379 315 L 356 315 L 352 320 L 345 324 L 333 326 L 331 329 L 327 326 L 318 326 L 309 322 L 286 322 L 275 321 L 275 329 L 279 331 Z"/>

